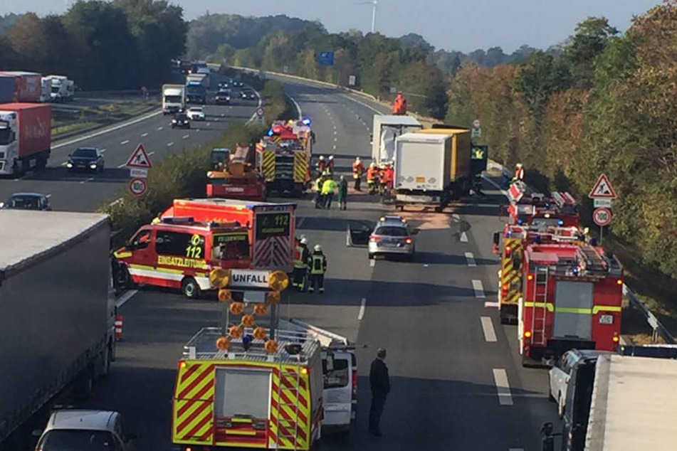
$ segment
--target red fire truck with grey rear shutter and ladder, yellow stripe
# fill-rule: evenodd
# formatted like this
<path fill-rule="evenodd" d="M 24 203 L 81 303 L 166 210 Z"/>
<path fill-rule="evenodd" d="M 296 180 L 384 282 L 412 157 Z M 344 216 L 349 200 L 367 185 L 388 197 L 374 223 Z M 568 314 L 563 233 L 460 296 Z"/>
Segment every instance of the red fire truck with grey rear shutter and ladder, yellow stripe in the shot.
<path fill-rule="evenodd" d="M 615 351 L 621 334 L 623 268 L 602 248 L 532 244 L 524 251 L 518 339 L 523 365 L 568 349 Z"/>

